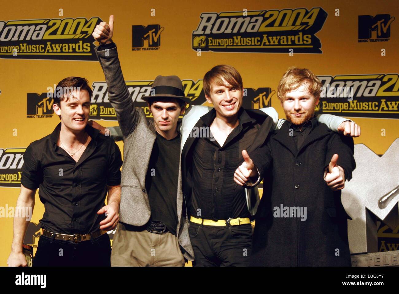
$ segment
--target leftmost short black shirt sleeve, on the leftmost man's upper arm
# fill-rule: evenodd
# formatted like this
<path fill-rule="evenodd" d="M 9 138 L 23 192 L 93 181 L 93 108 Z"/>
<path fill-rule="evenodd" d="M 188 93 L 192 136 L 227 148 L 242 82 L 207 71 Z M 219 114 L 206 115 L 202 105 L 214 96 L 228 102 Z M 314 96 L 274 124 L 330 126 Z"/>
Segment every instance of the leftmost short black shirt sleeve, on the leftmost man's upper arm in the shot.
<path fill-rule="evenodd" d="M 43 182 L 43 171 L 40 161 L 32 143 L 24 152 L 24 165 L 22 166 L 21 184 L 31 190 L 39 188 Z"/>

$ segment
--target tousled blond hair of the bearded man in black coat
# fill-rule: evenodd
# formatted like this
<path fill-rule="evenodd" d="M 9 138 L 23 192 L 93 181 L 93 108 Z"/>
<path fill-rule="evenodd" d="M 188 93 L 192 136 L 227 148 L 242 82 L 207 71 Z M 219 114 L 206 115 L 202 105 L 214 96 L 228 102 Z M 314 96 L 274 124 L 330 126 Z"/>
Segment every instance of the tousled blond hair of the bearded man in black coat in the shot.
<path fill-rule="evenodd" d="M 320 98 L 320 89 L 322 87 L 320 80 L 307 68 L 298 68 L 296 66 L 288 68 L 282 76 L 279 86 L 277 86 L 277 97 L 283 100 L 287 92 L 295 90 L 305 83 L 309 85 L 309 93 L 312 94 L 315 99 Z"/>

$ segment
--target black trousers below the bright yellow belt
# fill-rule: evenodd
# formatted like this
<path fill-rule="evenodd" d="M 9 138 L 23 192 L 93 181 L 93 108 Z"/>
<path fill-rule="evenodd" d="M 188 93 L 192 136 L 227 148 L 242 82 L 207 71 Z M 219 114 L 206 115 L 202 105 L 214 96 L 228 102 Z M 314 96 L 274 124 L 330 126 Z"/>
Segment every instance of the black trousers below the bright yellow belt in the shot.
<path fill-rule="evenodd" d="M 251 224 L 205 226 L 190 222 L 188 230 L 195 256 L 193 266 L 249 266 Z"/>

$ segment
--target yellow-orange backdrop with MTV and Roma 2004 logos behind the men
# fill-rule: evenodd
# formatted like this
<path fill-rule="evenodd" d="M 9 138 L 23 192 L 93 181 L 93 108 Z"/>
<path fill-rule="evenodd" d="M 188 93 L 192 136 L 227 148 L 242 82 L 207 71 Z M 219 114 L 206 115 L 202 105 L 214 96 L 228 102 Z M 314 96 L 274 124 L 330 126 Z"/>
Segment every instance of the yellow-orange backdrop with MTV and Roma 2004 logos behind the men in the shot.
<path fill-rule="evenodd" d="M 62 4 L 19 1 L 18 6 L 4 2 L 0 10 L 0 172 L 4 174 L 0 183 L 0 207 L 16 204 L 20 191 L 18 156 L 30 142 L 51 133 L 59 122 L 47 106 L 51 106 L 51 99 L 45 99 L 48 87 L 67 76 L 86 77 L 97 87 L 92 117 L 104 126 L 117 124 L 115 114 L 109 109 L 106 91 L 101 88 L 105 79 L 90 44 L 93 42 L 91 29 L 97 18 L 108 22 L 109 14 L 115 15 L 113 40 L 118 46 L 124 78 L 139 102 L 140 93 L 148 91 L 158 74 L 176 74 L 186 80 L 186 95 L 192 98 L 193 104 L 201 104 L 201 79 L 205 72 L 217 64 L 231 64 L 241 73 L 244 87 L 248 89 L 245 105 L 254 108 L 271 105 L 283 117 L 273 90 L 289 66 L 306 67 L 318 76 L 330 76 L 330 83 L 338 81 L 337 85 L 359 82 L 360 94 L 357 97 L 355 93 L 355 102 L 346 98 L 322 98 L 331 111 L 318 111 L 351 117 L 361 126 L 361 137 L 355 139 L 355 144 L 363 143 L 375 153 L 383 154 L 399 137 L 399 110 L 395 104 L 399 101 L 399 20 L 389 21 L 399 17 L 398 7 L 397 1 L 369 0 L 358 4 L 312 0 L 116 0 Z M 203 18 L 201 14 L 205 14 Z M 244 32 L 241 27 L 235 32 L 234 26 L 229 30 L 232 17 L 246 16 L 252 25 Z M 257 27 L 258 20 L 261 24 Z M 202 32 L 201 21 L 209 24 Z M 370 32 L 369 37 L 359 39 L 359 21 L 361 33 Z M 35 27 L 32 31 L 27 28 L 26 32 L 18 32 L 18 26 L 24 25 Z M 145 28 L 147 25 L 153 26 Z M 364 26 L 375 31 L 364 32 Z M 273 36 L 279 36 L 279 40 L 269 38 Z M 302 36 L 303 40 L 290 36 Z M 238 40 L 243 38 L 249 39 Z M 290 49 L 293 54 L 289 54 Z M 322 53 L 317 53 L 320 50 Z M 385 56 L 381 56 L 384 52 Z M 364 88 L 363 81 L 366 81 Z M 367 105 L 356 104 L 364 101 Z M 388 105 L 388 101 L 391 104 Z M 349 108 L 345 109 L 346 103 Z M 122 150 L 123 144 L 118 145 Z M 43 205 L 37 196 L 32 222 L 38 224 L 42 215 Z M 34 233 L 30 232 L 37 244 Z M 12 218 L 0 218 L 0 236 L 0 266 L 5 266 L 12 242 Z"/>

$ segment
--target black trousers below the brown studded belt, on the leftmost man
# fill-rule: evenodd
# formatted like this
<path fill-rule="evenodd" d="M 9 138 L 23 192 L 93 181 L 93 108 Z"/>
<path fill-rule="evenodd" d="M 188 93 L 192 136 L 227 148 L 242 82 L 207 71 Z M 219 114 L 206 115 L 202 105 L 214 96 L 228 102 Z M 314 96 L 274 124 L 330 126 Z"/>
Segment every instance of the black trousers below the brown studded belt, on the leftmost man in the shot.
<path fill-rule="evenodd" d="M 32 266 L 111 266 L 109 236 L 77 243 L 40 236 Z"/>

